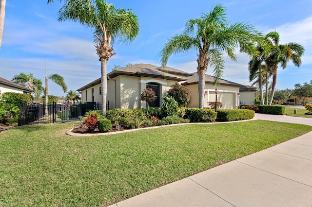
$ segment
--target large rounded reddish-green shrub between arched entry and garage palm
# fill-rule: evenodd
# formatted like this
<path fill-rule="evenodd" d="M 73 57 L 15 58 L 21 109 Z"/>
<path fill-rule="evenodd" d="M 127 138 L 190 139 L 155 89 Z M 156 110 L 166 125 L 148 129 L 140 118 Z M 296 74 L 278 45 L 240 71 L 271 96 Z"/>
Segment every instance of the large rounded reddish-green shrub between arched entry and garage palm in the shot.
<path fill-rule="evenodd" d="M 179 106 L 185 106 L 191 102 L 190 90 L 179 83 L 175 83 L 171 86 L 167 91 L 167 96 L 174 98 Z"/>

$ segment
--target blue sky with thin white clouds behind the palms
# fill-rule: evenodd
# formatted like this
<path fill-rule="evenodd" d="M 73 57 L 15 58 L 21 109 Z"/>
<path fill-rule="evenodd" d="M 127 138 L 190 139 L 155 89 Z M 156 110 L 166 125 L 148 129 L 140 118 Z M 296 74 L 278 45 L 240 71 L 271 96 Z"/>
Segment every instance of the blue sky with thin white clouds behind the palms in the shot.
<path fill-rule="evenodd" d="M 294 88 L 296 83 L 312 80 L 312 0 L 108 0 L 116 8 L 132 9 L 138 16 L 140 31 L 128 45 L 114 43 L 116 55 L 108 61 L 107 71 L 114 65 L 146 63 L 160 66 L 159 54 L 168 38 L 181 34 L 191 18 L 208 13 L 218 3 L 227 7 L 230 24 L 244 22 L 267 34 L 280 34 L 282 44 L 297 42 L 304 46 L 300 68 L 288 63 L 278 69 L 277 89 Z M 58 22 L 61 5 L 58 0 L 7 0 L 0 77 L 11 80 L 14 75 L 33 73 L 44 81 L 47 73 L 63 76 L 69 90 L 77 90 L 100 77 L 100 62 L 94 47 L 93 32 L 79 23 Z M 249 57 L 237 52 L 237 61 L 225 57 L 223 79 L 243 85 L 248 80 Z M 187 72 L 196 71 L 196 53 L 174 55 L 168 66 Z M 212 75 L 208 68 L 207 74 Z M 49 95 L 65 95 L 49 82 Z"/>

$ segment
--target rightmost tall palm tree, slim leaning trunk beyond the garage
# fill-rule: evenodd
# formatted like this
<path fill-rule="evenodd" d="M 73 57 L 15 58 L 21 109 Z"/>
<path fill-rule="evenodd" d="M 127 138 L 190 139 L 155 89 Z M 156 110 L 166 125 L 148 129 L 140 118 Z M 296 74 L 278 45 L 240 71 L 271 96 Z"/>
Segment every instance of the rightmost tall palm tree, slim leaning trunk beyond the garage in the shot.
<path fill-rule="evenodd" d="M 267 39 L 270 39 L 271 52 L 265 57 L 265 63 L 268 67 L 269 73 L 273 75 L 272 90 L 270 105 L 273 102 L 274 91 L 277 80 L 277 65 L 281 64 L 282 69 L 285 69 L 287 62 L 292 60 L 292 63 L 299 67 L 301 65 L 301 56 L 304 53 L 304 48 L 298 43 L 288 43 L 284 45 L 279 44 L 279 34 L 277 32 L 271 32 L 266 35 Z"/>

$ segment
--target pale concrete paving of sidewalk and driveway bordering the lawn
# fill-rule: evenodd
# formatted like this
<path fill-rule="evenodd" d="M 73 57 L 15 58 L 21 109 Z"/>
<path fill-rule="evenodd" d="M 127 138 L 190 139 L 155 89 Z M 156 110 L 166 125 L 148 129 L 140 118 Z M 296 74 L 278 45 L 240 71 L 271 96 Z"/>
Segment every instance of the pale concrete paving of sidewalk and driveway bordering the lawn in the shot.
<path fill-rule="evenodd" d="M 255 119 L 312 125 L 309 118 L 256 114 Z M 114 206 L 312 207 L 312 132 Z"/>

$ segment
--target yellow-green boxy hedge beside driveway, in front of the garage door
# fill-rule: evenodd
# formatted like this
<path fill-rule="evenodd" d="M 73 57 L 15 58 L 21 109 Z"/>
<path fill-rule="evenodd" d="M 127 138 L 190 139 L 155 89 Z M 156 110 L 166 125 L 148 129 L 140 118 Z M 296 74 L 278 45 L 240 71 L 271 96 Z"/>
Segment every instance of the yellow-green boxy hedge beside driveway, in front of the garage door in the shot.
<path fill-rule="evenodd" d="M 218 121 L 250 120 L 254 118 L 254 111 L 249 109 L 219 109 Z"/>

